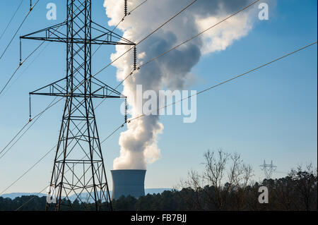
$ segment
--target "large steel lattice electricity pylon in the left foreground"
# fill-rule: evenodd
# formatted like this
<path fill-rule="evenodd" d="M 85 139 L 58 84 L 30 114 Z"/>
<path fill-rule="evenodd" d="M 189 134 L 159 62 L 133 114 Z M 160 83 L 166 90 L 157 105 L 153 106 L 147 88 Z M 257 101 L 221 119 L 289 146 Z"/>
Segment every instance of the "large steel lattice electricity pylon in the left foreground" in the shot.
<path fill-rule="evenodd" d="M 49 195 L 56 195 L 52 196 L 56 200 L 47 203 L 46 209 L 72 209 L 71 196 L 75 196 L 85 209 L 93 203 L 96 210 L 104 206 L 111 210 L 93 99 L 124 96 L 92 75 L 92 47 L 135 44 L 93 22 L 92 0 L 66 2 L 67 18 L 63 23 L 20 37 L 66 44 L 64 78 L 30 92 L 30 95 L 65 98 L 49 188 Z"/>

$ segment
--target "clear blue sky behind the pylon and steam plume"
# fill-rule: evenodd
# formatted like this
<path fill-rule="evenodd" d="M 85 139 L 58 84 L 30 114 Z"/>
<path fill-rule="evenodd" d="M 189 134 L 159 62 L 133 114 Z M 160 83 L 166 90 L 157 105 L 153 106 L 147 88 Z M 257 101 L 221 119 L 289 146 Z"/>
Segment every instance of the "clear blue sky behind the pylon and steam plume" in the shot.
<path fill-rule="evenodd" d="M 46 19 L 49 2 L 57 4 L 57 21 Z M 19 3 L 20 0 L 6 1 L 0 8 L 0 32 Z M 28 1 L 23 3 L 1 39 L 1 52 L 27 13 L 28 4 Z M 107 26 L 102 4 L 103 0 L 93 1 L 93 17 Z M 64 5 L 61 0 L 40 0 L 18 36 L 63 21 Z M 276 8 L 270 9 L 269 20 L 257 22 L 249 35 L 225 51 L 201 58 L 192 71 L 198 77 L 197 82 L 190 89 L 204 90 L 316 40 L 317 1 L 278 0 Z M 0 61 L 0 88 L 18 66 L 18 43 L 15 38 Z M 23 56 L 38 44 L 40 42 L 24 41 Z M 93 57 L 93 72 L 110 62 L 112 52 L 114 47 L 102 47 L 98 51 Z M 64 44 L 45 44 L 18 71 L 5 95 L 0 97 L 0 151 L 28 121 L 28 92 L 62 78 L 65 67 Z M 115 73 L 112 67 L 98 78 L 116 86 Z M 34 113 L 40 112 L 50 101 L 50 97 L 33 97 Z M 110 99 L 96 111 L 101 139 L 122 123 L 121 103 Z M 63 104 L 61 101 L 49 109 L 0 159 L 0 192 L 56 144 Z M 273 160 L 277 170 L 282 172 L 274 177 L 284 176 L 291 168 L 310 162 L 316 167 L 317 45 L 200 95 L 197 108 L 196 123 L 182 123 L 182 116 L 161 118 L 165 126 L 158 140 L 162 159 L 148 165 L 146 188 L 176 186 L 181 178 L 186 178 L 189 169 L 202 170 L 206 150 L 220 148 L 240 153 L 245 162 L 254 167 L 257 181 L 264 178 L 259 169 L 264 159 Z M 119 155 L 118 139 L 119 133 L 116 133 L 102 145 L 110 184 L 112 162 Z M 53 160 L 54 152 L 6 193 L 42 190 L 49 182 Z"/>

